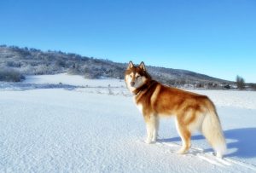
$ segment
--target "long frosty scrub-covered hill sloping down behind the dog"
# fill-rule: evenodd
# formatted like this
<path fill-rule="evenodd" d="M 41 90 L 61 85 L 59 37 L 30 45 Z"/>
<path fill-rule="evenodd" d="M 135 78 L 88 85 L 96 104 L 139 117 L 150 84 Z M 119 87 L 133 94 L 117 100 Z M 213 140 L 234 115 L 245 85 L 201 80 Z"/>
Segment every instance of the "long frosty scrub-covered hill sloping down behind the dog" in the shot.
<path fill-rule="evenodd" d="M 147 65 L 147 62 L 145 62 Z M 95 59 L 61 51 L 0 46 L 0 68 L 14 70 L 22 75 L 69 72 L 85 78 L 124 78 L 127 64 Z M 148 72 L 165 84 L 231 84 L 219 78 L 172 68 L 148 66 Z"/>

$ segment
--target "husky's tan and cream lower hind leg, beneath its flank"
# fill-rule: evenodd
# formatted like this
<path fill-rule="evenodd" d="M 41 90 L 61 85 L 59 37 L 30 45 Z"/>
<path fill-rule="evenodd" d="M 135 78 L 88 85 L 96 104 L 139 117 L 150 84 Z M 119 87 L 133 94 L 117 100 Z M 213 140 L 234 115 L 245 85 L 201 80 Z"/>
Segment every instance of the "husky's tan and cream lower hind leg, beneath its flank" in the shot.
<path fill-rule="evenodd" d="M 179 136 L 182 139 L 183 146 L 177 151 L 177 153 L 186 153 L 191 146 L 190 137 L 191 133 L 185 125 L 182 125 L 178 118 L 175 119 L 176 129 Z"/>

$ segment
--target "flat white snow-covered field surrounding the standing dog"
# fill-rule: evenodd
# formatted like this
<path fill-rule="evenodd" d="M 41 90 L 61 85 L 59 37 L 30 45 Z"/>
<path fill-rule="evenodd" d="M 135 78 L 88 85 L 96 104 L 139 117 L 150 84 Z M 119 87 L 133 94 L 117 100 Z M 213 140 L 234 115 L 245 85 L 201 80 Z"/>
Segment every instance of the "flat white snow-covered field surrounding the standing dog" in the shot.
<path fill-rule="evenodd" d="M 124 81 L 65 73 L 0 83 L 0 172 L 256 172 L 256 92 L 191 90 L 218 108 L 227 139 L 224 159 L 200 134 L 189 153 L 172 118 L 159 140 L 146 130 Z"/>

